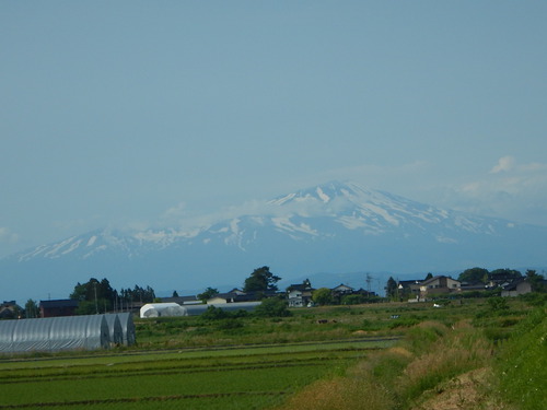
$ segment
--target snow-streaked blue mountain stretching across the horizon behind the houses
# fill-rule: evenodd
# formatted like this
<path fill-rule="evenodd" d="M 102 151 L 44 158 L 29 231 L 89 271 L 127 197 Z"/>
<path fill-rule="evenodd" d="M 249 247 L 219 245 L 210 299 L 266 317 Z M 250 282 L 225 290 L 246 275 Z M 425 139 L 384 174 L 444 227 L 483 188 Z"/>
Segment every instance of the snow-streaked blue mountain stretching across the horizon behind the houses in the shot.
<path fill-rule="evenodd" d="M 405 276 L 475 266 L 546 266 L 547 227 L 465 214 L 352 183 L 265 202 L 253 214 L 130 234 L 97 230 L 0 259 L 0 297 L 68 297 L 77 282 L 159 291 L 241 286 L 261 266 L 283 278 L 318 272 Z M 384 272 L 384 273 L 379 273 Z M 361 274 L 361 273 L 358 273 Z M 312 282 L 313 284 L 313 282 Z"/>

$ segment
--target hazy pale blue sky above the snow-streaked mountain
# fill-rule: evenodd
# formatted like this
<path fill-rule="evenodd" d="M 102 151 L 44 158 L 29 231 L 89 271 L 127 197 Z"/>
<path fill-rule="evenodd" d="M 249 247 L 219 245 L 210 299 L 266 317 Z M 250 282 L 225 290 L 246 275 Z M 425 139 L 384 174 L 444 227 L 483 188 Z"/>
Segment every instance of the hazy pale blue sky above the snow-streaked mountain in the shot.
<path fill-rule="evenodd" d="M 0 256 L 331 179 L 547 225 L 545 1 L 0 1 Z"/>

